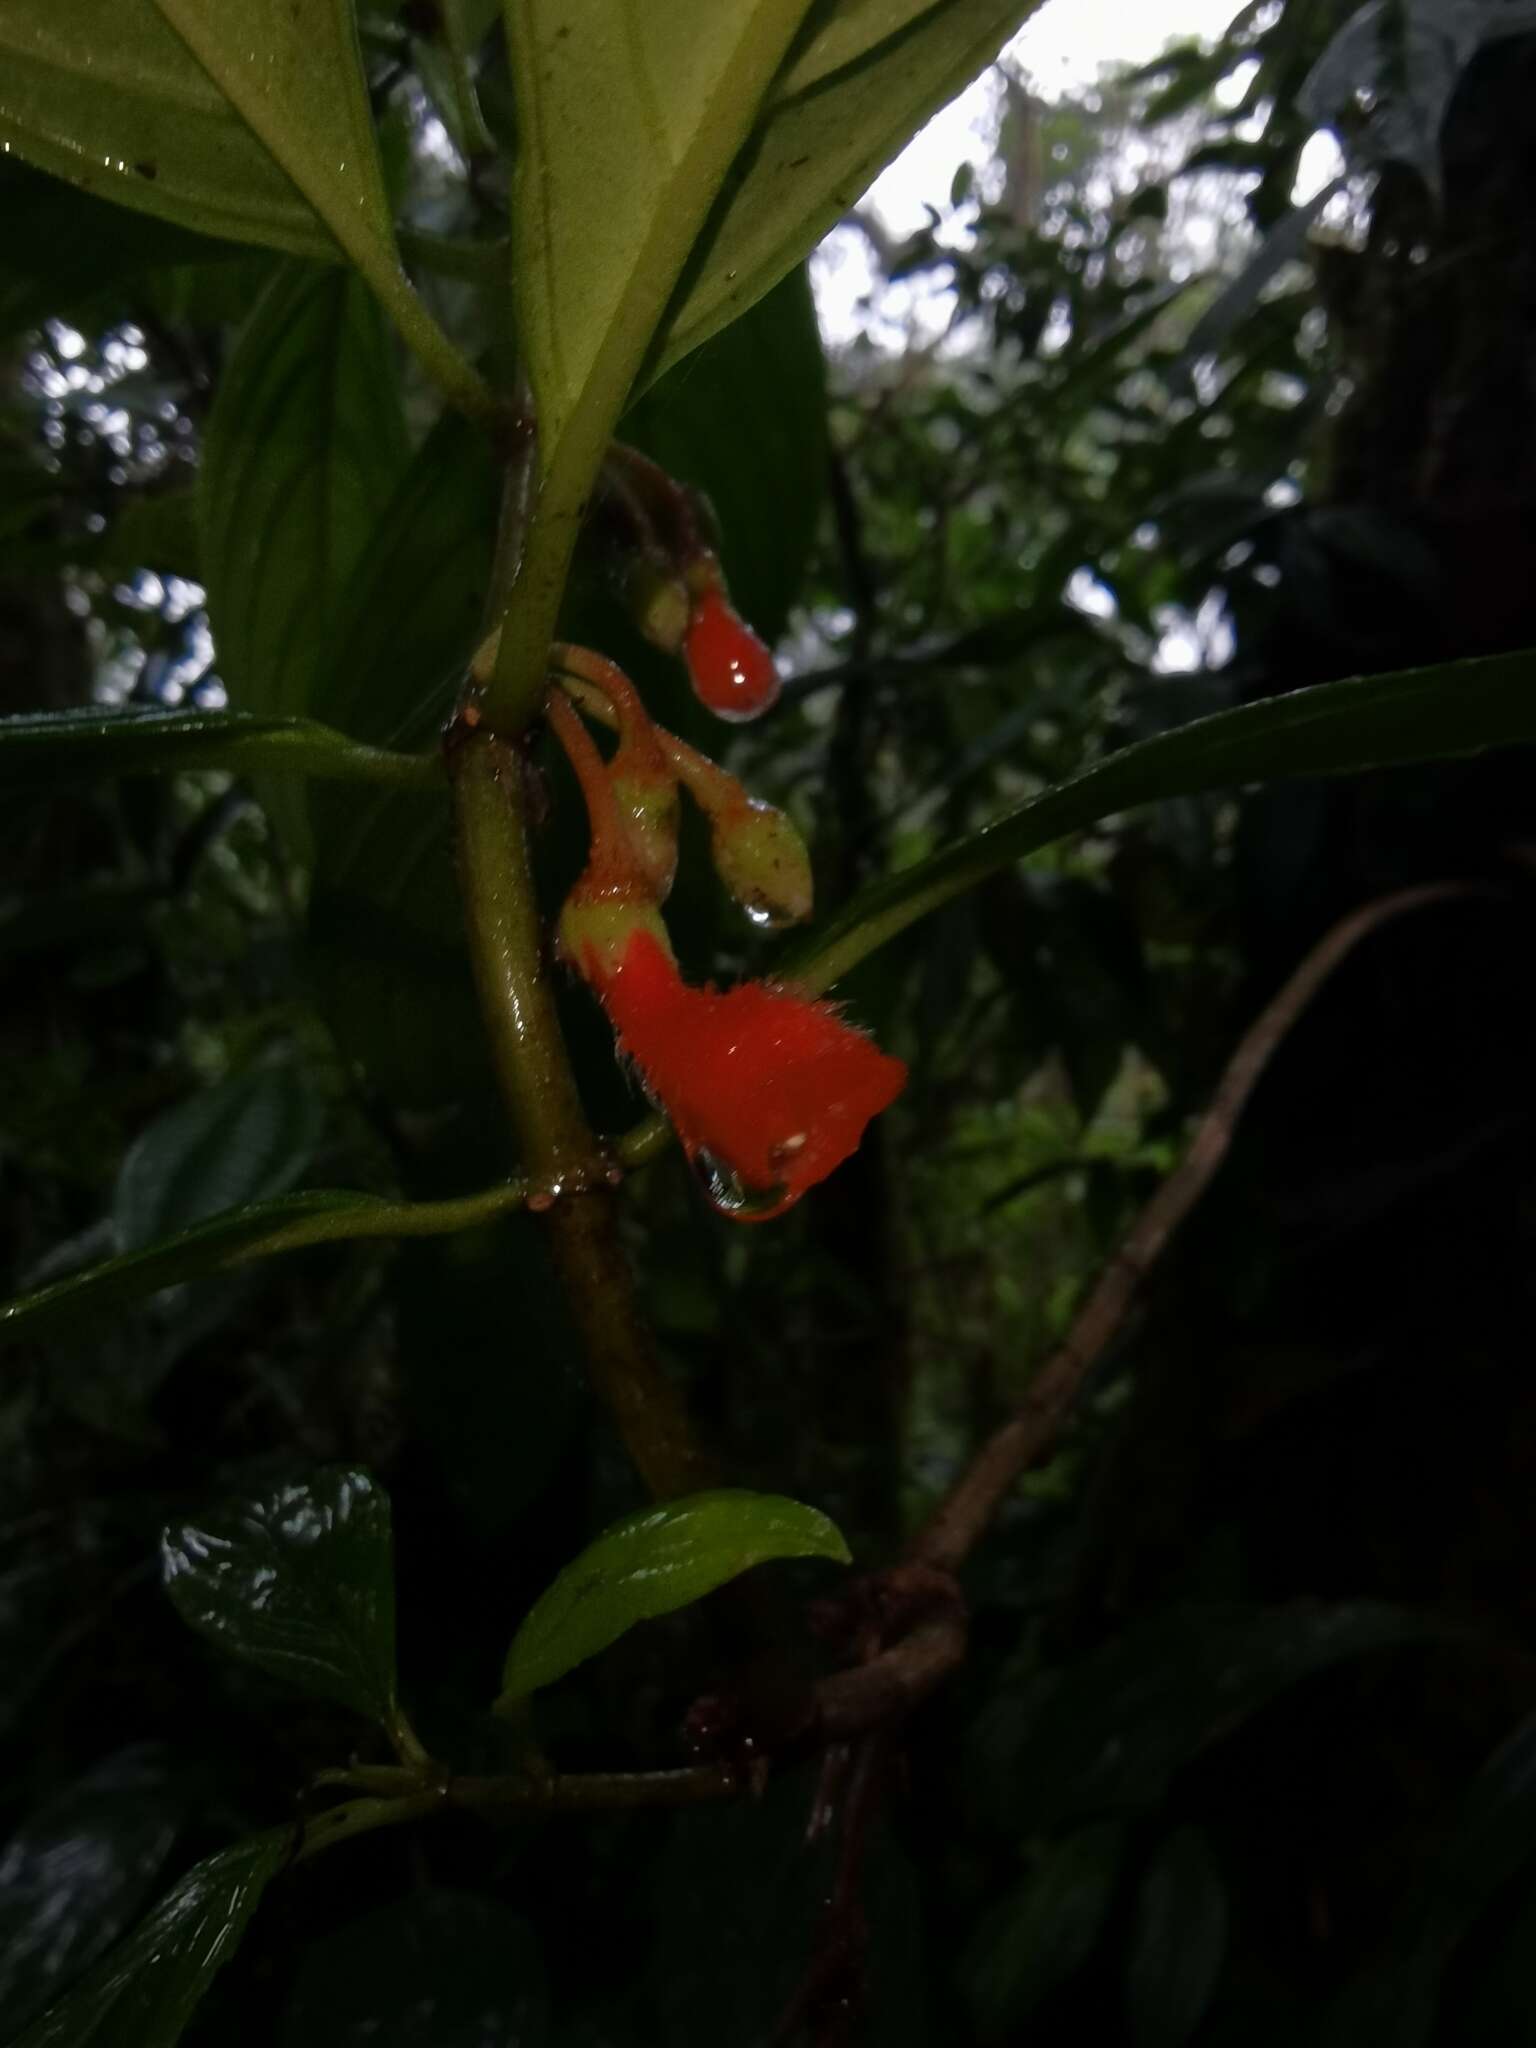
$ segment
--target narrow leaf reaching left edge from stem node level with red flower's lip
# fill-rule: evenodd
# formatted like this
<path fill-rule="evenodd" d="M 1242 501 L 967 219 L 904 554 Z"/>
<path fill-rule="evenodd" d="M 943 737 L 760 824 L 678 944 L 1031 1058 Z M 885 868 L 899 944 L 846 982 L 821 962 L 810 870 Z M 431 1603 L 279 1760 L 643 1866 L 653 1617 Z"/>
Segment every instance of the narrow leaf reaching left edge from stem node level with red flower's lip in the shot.
<path fill-rule="evenodd" d="M 242 1266 L 246 1260 L 299 1251 L 354 1237 L 436 1237 L 467 1231 L 522 1202 L 522 1186 L 508 1182 L 481 1194 L 444 1202 L 391 1202 L 383 1194 L 313 1188 L 252 1202 L 223 1217 L 209 1217 L 143 1251 L 129 1251 L 88 1266 L 68 1280 L 33 1288 L 0 1303 L 0 1346 L 6 1339 L 45 1335 L 84 1315 L 98 1315 L 129 1300 L 143 1300 L 180 1280 Z"/>

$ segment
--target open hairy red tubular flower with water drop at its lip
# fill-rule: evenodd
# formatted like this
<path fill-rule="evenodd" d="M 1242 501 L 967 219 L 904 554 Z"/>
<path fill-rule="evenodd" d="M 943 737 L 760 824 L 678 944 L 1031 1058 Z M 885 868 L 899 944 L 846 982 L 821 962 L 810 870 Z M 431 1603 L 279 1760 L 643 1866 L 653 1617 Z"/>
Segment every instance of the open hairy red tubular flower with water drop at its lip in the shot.
<path fill-rule="evenodd" d="M 688 1159 L 707 1159 L 760 1200 L 743 1221 L 780 1217 L 842 1165 L 887 1110 L 907 1069 L 831 1004 L 741 981 L 696 989 L 649 930 L 612 967 L 596 948 L 582 971 L 666 1108 Z"/>

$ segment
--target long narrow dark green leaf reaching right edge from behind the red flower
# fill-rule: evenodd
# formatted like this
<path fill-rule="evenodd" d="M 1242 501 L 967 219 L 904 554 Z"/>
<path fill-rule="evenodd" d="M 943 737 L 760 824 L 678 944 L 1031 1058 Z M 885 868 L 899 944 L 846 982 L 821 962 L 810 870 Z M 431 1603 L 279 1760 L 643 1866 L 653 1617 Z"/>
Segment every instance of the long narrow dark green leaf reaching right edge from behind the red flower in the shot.
<path fill-rule="evenodd" d="M 1030 797 L 1016 811 L 893 874 L 780 965 L 827 989 L 918 918 L 997 868 L 1116 811 L 1282 776 L 1358 774 L 1536 739 L 1536 655 L 1444 662 L 1395 676 L 1325 682 L 1143 739 Z"/>

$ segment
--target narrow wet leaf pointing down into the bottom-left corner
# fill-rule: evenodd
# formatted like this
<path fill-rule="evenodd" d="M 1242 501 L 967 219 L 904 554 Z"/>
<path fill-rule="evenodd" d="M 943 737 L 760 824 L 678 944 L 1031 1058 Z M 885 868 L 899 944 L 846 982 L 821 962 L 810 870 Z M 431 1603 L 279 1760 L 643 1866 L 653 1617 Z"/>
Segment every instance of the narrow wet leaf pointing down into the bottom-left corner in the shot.
<path fill-rule="evenodd" d="M 252 1835 L 197 1864 L 154 1913 L 12 2048 L 174 2048 L 240 1948 L 289 1835 Z"/>

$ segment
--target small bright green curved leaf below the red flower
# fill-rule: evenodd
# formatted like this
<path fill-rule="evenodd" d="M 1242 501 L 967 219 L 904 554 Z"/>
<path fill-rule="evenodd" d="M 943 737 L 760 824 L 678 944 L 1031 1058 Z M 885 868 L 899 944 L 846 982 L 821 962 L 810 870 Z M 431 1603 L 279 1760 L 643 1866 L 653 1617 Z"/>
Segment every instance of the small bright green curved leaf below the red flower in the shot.
<path fill-rule="evenodd" d="M 635 1622 L 692 1606 L 754 1565 L 784 1556 L 850 1563 L 848 1544 L 819 1509 L 774 1493 L 692 1493 L 614 1522 L 524 1618 L 506 1655 L 502 1704 L 551 1686 Z"/>

